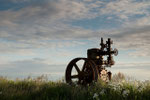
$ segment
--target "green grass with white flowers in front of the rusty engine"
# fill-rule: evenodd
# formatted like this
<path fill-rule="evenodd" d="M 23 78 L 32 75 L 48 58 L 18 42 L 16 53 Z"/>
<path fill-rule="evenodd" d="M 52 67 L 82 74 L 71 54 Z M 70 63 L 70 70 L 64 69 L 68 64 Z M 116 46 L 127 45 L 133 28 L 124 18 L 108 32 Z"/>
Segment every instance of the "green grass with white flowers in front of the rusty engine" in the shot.
<path fill-rule="evenodd" d="M 8 80 L 0 77 L 0 100 L 150 100 L 150 81 L 140 82 L 114 75 L 109 83 L 68 85 L 38 77 Z"/>

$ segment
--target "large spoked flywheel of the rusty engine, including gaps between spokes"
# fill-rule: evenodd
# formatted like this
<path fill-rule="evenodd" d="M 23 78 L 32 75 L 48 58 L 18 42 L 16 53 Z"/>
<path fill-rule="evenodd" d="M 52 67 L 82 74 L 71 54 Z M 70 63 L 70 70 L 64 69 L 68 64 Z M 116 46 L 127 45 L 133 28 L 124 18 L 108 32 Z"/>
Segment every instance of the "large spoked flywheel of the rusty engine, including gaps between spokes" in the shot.
<path fill-rule="evenodd" d="M 66 82 L 86 85 L 98 79 L 95 63 L 87 58 L 75 58 L 67 66 Z"/>

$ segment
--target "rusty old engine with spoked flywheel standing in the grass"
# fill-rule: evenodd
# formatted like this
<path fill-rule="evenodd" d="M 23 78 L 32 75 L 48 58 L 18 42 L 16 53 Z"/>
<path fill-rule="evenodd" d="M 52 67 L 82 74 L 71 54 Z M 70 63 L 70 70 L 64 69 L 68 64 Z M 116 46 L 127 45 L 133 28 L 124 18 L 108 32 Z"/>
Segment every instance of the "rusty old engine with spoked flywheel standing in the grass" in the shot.
<path fill-rule="evenodd" d="M 113 41 L 108 38 L 106 43 L 101 38 L 100 48 L 87 50 L 87 58 L 75 58 L 66 68 L 65 79 L 67 83 L 90 84 L 101 79 L 105 82 L 111 80 L 111 72 L 106 67 L 114 65 L 113 54 L 118 55 L 117 49 L 112 49 Z M 105 60 L 106 59 L 106 60 Z"/>

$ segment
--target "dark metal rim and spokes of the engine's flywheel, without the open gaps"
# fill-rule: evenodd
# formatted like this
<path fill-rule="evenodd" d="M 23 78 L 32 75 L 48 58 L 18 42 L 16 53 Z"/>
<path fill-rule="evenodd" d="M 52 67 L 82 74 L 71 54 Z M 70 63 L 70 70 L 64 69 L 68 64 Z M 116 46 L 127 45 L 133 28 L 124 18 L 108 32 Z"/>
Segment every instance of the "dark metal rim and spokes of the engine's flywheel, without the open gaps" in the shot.
<path fill-rule="evenodd" d="M 76 66 L 76 63 L 78 61 L 80 61 L 80 60 L 84 60 L 85 61 L 84 64 L 87 63 L 89 65 L 83 65 L 82 66 L 82 70 L 79 70 L 77 68 L 77 66 Z M 75 58 L 67 66 L 66 75 L 65 75 L 66 82 L 72 84 L 73 83 L 72 78 L 78 78 L 79 81 L 77 82 L 77 84 L 88 84 L 88 83 L 91 83 L 92 82 L 91 80 L 87 81 L 89 76 L 88 75 L 84 76 L 84 75 L 86 75 L 85 73 L 87 72 L 87 70 L 86 70 L 87 68 L 84 69 L 84 67 L 87 67 L 87 66 L 90 66 L 90 68 L 92 69 L 92 71 L 91 71 L 92 75 L 93 75 L 92 76 L 92 81 L 97 81 L 97 79 L 98 79 L 98 70 L 97 70 L 97 67 L 96 67 L 95 63 L 93 61 L 87 59 L 87 58 Z M 76 70 L 78 71 L 78 75 L 76 75 L 76 76 L 72 76 L 71 75 L 73 67 L 75 67 Z"/>

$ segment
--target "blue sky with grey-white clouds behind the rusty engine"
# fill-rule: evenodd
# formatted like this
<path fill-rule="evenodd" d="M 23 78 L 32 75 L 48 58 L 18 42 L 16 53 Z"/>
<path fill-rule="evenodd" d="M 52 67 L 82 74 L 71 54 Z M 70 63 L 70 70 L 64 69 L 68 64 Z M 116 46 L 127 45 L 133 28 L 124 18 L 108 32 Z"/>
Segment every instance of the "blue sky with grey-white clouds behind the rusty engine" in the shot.
<path fill-rule="evenodd" d="M 149 0 L 0 0 L 0 76 L 47 75 L 111 38 L 113 74 L 150 80 Z"/>

